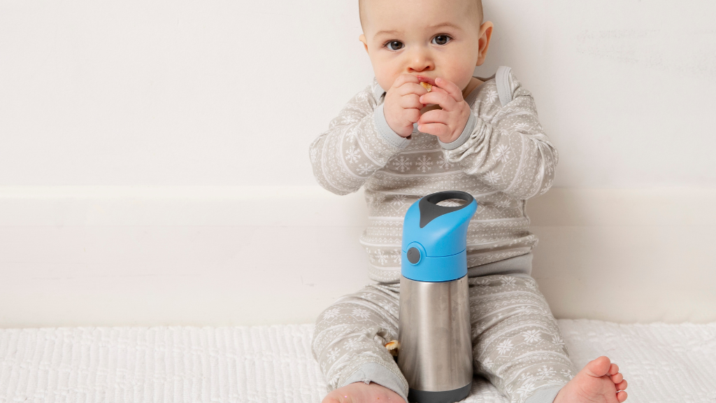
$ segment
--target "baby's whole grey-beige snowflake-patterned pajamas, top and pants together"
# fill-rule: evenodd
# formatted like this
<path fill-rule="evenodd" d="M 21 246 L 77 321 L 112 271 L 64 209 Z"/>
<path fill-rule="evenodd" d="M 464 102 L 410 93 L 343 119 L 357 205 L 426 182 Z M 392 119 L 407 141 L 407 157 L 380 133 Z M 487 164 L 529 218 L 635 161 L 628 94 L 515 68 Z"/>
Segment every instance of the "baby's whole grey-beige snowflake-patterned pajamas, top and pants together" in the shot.
<path fill-rule="evenodd" d="M 402 219 L 436 191 L 472 194 L 468 276 L 475 373 L 512 402 L 552 402 L 574 368 L 546 300 L 530 277 L 537 238 L 526 200 L 554 179 L 556 149 L 539 124 L 531 94 L 508 67 L 465 98 L 472 114 L 452 143 L 393 132 L 373 81 L 310 147 L 316 180 L 335 194 L 364 188 L 369 227 L 360 239 L 377 281 L 327 308 L 313 351 L 329 386 L 373 381 L 405 398 L 407 383 L 384 343 L 397 339 Z"/>

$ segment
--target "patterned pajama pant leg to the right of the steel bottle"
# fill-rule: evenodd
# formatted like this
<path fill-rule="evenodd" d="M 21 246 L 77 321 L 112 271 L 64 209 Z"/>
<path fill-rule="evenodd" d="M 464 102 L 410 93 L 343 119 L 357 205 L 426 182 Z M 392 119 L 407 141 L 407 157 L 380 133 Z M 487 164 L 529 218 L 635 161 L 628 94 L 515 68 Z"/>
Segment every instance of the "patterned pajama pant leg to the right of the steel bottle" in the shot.
<path fill-rule="evenodd" d="M 535 280 L 486 275 L 468 283 L 475 373 L 513 403 L 552 402 L 574 367 Z"/>

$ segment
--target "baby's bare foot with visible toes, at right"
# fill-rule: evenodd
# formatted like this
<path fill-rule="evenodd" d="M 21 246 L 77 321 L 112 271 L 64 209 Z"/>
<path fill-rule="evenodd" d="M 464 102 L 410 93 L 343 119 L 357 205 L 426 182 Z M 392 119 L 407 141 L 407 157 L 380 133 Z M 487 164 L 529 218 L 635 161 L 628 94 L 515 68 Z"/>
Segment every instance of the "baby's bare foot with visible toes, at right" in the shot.
<path fill-rule="evenodd" d="M 627 400 L 624 389 L 627 381 L 619 373 L 619 367 L 601 356 L 564 385 L 554 403 L 621 403 Z"/>

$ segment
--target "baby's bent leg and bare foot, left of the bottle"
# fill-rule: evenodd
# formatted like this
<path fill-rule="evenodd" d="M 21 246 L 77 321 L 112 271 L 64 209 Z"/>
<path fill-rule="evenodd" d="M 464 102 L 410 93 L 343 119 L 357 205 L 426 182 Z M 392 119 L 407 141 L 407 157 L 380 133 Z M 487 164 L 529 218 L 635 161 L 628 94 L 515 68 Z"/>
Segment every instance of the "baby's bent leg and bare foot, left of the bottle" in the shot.
<path fill-rule="evenodd" d="M 392 396 L 393 402 L 400 402 L 407 395 L 407 381 L 384 347 L 397 340 L 398 290 L 397 284 L 369 285 L 339 298 L 316 321 L 311 349 L 329 389 L 353 394 L 346 401 Z M 371 383 L 354 383 L 360 381 Z M 342 401 L 329 397 L 326 400 Z"/>

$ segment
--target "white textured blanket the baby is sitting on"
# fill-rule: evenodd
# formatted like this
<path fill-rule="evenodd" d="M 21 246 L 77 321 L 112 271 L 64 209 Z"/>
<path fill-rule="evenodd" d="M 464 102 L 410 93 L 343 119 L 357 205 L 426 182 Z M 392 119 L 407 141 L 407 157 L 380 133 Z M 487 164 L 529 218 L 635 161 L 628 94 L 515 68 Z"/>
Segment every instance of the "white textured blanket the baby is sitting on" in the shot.
<path fill-rule="evenodd" d="M 716 323 L 559 321 L 579 368 L 619 364 L 637 403 L 716 403 Z M 0 403 L 311 402 L 311 325 L 0 330 Z M 465 402 L 507 402 L 475 382 Z"/>

